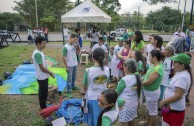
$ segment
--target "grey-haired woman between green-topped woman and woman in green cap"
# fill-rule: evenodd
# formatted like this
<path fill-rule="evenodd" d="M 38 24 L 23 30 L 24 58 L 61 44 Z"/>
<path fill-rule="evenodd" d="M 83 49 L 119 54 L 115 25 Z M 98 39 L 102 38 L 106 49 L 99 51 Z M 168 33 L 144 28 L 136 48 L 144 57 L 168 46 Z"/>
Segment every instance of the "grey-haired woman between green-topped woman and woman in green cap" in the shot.
<path fill-rule="evenodd" d="M 175 49 L 171 45 L 166 46 L 164 49 L 164 52 L 163 52 L 163 54 L 165 56 L 165 59 L 163 62 L 164 76 L 163 76 L 162 82 L 160 84 L 160 99 L 159 100 L 163 99 L 166 85 L 168 84 L 169 79 L 173 75 L 172 61 L 170 60 L 170 57 L 174 56 L 174 52 L 175 52 Z"/>

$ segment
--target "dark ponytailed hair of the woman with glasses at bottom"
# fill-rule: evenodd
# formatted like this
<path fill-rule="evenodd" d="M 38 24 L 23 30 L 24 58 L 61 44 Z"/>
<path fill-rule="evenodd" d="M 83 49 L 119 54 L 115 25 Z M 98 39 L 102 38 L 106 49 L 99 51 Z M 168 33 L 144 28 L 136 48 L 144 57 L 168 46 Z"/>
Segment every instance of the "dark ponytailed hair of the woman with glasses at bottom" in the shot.
<path fill-rule="evenodd" d="M 98 116 L 98 123 L 97 126 L 102 126 L 102 116 L 105 112 L 110 111 L 114 106 L 117 101 L 117 92 L 114 89 L 106 89 L 104 90 L 101 95 L 104 95 L 105 99 L 107 100 L 108 104 L 113 103 L 113 106 L 109 106 L 102 110 L 100 112 L 100 115 Z"/>

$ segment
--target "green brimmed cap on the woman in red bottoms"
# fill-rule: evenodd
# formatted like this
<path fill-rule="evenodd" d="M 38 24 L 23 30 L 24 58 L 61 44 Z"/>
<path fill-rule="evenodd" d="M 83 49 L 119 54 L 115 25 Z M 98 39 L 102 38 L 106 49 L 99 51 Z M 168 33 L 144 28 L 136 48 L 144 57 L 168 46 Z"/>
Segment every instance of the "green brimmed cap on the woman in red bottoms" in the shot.
<path fill-rule="evenodd" d="M 190 64 L 191 57 L 185 53 L 180 53 L 176 56 L 170 57 L 170 60 L 180 62 L 182 64 Z"/>

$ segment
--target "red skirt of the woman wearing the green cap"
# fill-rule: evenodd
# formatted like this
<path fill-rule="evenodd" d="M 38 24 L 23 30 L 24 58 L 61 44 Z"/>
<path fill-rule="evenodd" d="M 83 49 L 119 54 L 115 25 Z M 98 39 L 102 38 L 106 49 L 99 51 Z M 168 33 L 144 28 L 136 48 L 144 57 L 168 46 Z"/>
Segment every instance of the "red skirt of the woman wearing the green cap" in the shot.
<path fill-rule="evenodd" d="M 164 122 L 168 123 L 170 126 L 182 126 L 184 122 L 185 111 L 169 113 L 162 112 L 162 117 Z"/>

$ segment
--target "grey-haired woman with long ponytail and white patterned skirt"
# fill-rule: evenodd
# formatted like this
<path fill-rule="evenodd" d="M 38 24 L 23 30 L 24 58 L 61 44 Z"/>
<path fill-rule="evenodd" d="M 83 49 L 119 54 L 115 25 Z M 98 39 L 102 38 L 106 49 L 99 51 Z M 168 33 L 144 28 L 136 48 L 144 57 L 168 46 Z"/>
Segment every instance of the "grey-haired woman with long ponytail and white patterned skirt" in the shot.
<path fill-rule="evenodd" d="M 137 72 L 137 62 L 126 59 L 123 63 L 125 76 L 119 81 L 116 92 L 119 98 L 126 100 L 123 109 L 119 112 L 119 122 L 124 126 L 134 126 L 137 117 L 138 98 L 141 92 L 141 80 Z"/>

